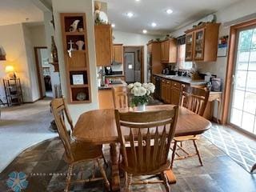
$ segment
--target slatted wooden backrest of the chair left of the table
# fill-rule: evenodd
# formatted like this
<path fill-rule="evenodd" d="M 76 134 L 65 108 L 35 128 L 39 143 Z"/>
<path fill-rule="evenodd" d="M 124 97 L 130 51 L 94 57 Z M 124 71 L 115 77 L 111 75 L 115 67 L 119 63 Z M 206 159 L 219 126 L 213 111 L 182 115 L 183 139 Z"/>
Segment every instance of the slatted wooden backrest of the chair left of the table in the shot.
<path fill-rule="evenodd" d="M 68 130 L 66 129 L 64 114 L 66 115 L 67 122 L 69 122 L 72 130 L 73 130 L 73 124 L 70 118 L 70 113 L 66 106 L 65 98 L 54 98 L 53 101 L 50 102 L 50 107 L 51 107 L 52 113 L 54 114 L 54 121 L 58 129 L 59 137 L 61 138 L 63 146 L 66 151 L 66 158 L 72 160 L 74 159 L 74 157 L 72 155 L 71 147 L 70 147 L 71 137 Z"/>

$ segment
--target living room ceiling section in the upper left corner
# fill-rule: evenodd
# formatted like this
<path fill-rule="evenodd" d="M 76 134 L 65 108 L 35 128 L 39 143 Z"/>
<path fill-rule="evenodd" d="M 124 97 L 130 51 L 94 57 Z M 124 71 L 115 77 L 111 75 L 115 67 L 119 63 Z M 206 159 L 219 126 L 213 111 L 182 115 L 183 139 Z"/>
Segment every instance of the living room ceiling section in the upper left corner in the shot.
<path fill-rule="evenodd" d="M 42 21 L 42 11 L 31 0 L 0 0 L 0 26 Z"/>

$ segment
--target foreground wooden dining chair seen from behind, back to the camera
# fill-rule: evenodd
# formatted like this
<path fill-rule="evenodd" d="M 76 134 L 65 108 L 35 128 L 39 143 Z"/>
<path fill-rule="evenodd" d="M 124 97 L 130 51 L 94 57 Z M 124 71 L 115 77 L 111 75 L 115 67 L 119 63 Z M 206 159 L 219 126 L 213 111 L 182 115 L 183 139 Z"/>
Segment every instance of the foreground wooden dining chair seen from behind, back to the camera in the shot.
<path fill-rule="evenodd" d="M 164 171 L 170 168 L 168 154 L 177 118 L 178 106 L 173 110 L 149 112 L 121 113 L 115 110 L 125 191 L 130 191 L 131 185 L 154 183 L 163 183 L 166 191 L 170 191 Z M 132 182 L 133 176 L 152 174 L 160 174 L 162 180 Z"/>

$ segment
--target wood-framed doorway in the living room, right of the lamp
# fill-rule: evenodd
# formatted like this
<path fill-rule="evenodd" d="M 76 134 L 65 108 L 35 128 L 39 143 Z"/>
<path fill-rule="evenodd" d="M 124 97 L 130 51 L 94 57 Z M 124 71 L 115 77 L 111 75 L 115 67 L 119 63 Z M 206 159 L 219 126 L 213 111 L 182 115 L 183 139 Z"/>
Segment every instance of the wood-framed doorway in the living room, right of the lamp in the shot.
<path fill-rule="evenodd" d="M 50 64 L 47 47 L 34 47 L 35 62 L 38 72 L 40 99 L 54 98 L 50 78 Z"/>

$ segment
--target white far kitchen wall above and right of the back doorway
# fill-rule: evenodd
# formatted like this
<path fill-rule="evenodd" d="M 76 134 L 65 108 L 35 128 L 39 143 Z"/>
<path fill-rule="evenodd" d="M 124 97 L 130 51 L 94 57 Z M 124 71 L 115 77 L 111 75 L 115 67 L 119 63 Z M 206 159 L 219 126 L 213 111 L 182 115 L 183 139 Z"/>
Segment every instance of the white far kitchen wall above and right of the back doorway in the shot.
<path fill-rule="evenodd" d="M 147 60 L 147 42 L 149 42 L 153 38 L 161 38 L 154 35 L 146 35 L 146 34 L 133 34 L 126 33 L 118 30 L 113 31 L 114 35 L 114 43 L 122 43 L 123 46 L 144 46 L 144 81 L 146 82 L 146 60 Z M 122 69 L 123 66 L 119 66 L 119 69 Z"/>

